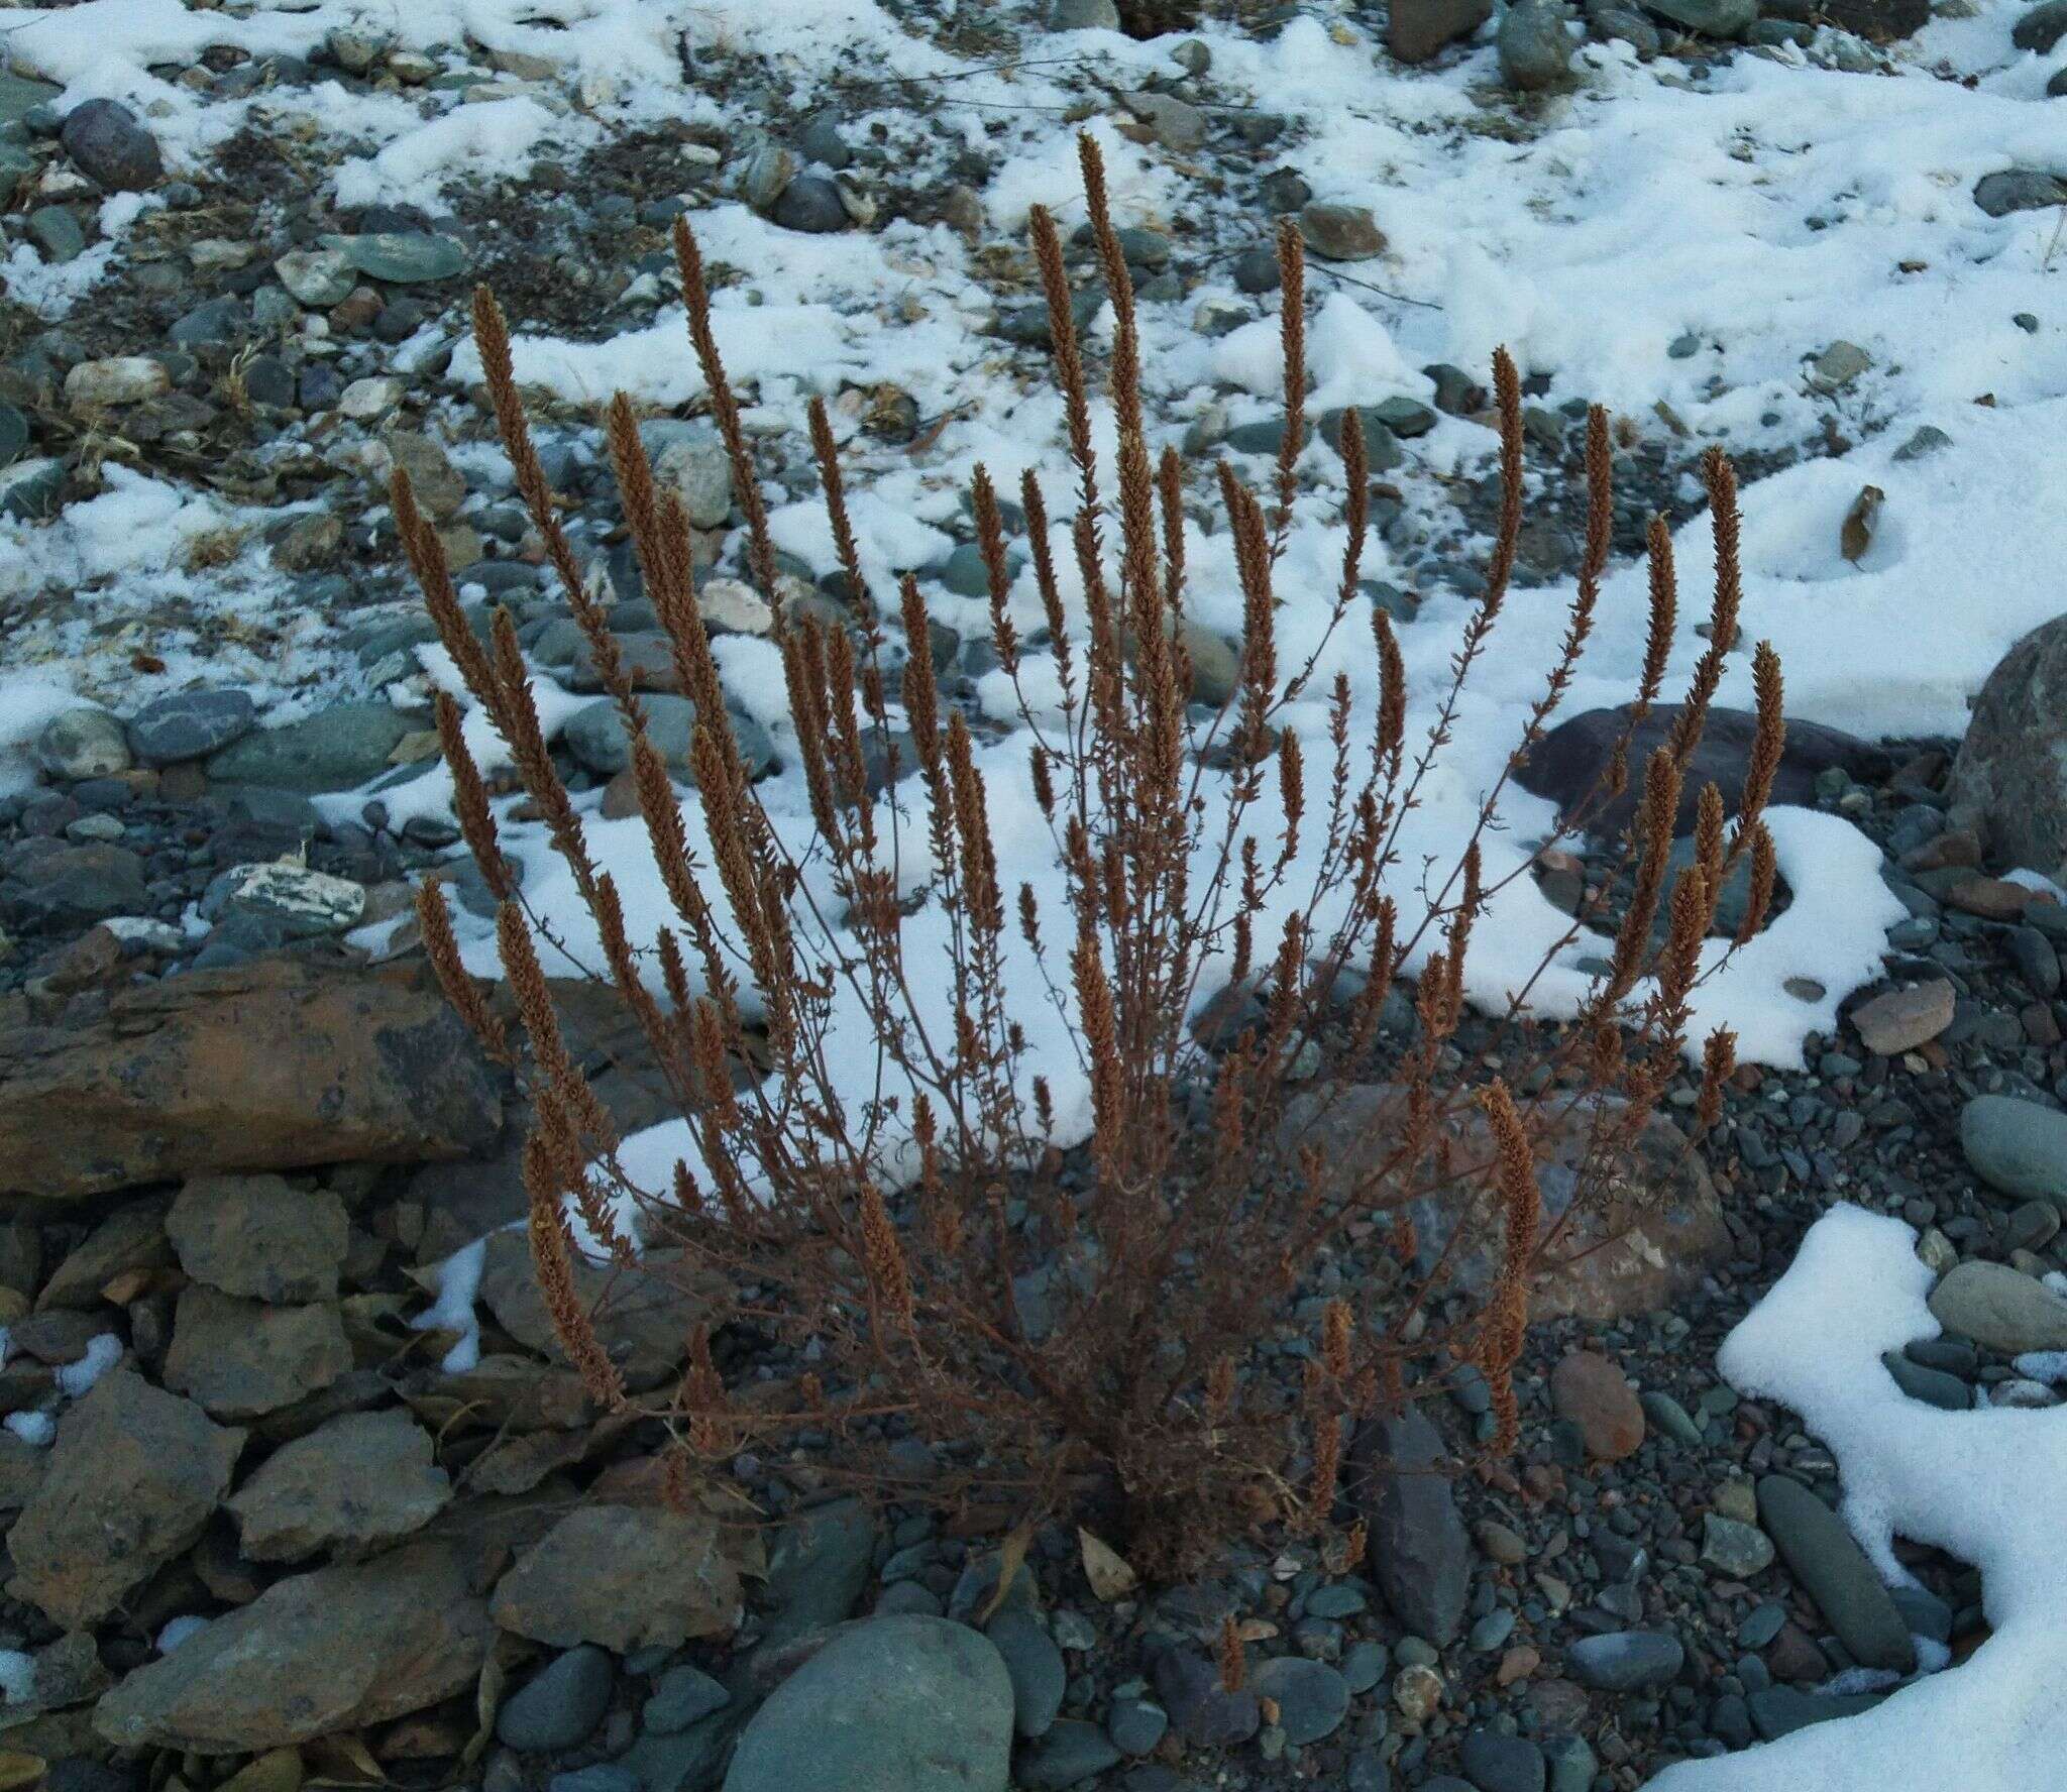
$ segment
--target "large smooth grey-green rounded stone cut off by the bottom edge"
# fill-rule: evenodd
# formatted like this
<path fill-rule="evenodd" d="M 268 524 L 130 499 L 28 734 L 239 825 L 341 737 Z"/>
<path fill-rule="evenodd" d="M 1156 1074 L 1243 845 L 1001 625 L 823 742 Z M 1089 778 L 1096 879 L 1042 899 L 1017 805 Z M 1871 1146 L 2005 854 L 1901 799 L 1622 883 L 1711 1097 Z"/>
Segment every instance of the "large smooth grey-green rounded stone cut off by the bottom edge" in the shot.
<path fill-rule="evenodd" d="M 947 1618 L 864 1618 L 754 1713 L 726 1792 L 1005 1792 L 1013 1685 L 998 1651 Z"/>

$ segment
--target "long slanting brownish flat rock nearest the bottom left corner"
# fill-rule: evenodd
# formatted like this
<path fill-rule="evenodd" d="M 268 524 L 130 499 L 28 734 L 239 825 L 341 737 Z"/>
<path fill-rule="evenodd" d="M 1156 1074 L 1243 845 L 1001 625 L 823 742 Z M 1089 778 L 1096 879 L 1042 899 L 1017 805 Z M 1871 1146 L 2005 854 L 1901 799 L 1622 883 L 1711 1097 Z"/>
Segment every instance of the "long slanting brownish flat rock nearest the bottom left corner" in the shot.
<path fill-rule="evenodd" d="M 246 1755 L 471 1695 L 494 1641 L 459 1550 L 413 1544 L 269 1587 L 116 1687 L 118 1749 Z"/>

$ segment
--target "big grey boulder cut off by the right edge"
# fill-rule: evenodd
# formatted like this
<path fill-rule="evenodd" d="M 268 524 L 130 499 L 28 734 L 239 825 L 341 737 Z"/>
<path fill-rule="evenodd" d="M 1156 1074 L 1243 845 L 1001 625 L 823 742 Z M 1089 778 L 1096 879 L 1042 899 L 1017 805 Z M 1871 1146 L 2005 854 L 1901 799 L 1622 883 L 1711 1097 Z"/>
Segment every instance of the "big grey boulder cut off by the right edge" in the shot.
<path fill-rule="evenodd" d="M 1997 858 L 2046 874 L 2067 860 L 2067 616 L 2026 635 L 1980 686 L 1949 796 Z"/>

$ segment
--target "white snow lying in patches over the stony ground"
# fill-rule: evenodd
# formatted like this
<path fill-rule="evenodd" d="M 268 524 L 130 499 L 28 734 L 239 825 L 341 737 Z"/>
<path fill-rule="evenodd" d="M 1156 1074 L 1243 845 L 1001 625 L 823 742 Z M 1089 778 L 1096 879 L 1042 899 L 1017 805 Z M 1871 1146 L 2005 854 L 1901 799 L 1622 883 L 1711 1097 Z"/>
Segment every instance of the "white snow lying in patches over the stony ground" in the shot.
<path fill-rule="evenodd" d="M 1017 240 L 1036 203 L 1052 207 L 1065 229 L 1081 221 L 1073 138 L 1083 124 L 1104 149 L 1120 223 L 1238 242 L 1246 205 L 1248 240 L 1267 240 L 1269 217 L 1253 200 L 1201 180 L 1209 155 L 1135 143 L 1112 122 L 1112 95 L 1170 74 L 1172 39 L 1027 33 L 1019 60 L 986 62 L 922 29 L 976 10 L 976 0 L 909 10 L 872 0 L 322 0 L 240 10 L 87 0 L 19 14 L 0 33 L 0 56 L 62 83 L 66 103 L 95 95 L 130 101 L 149 116 L 174 172 L 205 165 L 256 107 L 273 103 L 265 95 L 205 103 L 151 72 L 203 45 L 306 54 L 333 31 L 360 31 L 403 48 L 471 39 L 490 52 L 550 58 L 562 72 L 550 103 L 511 93 L 420 105 L 407 95 L 353 95 L 337 83 L 296 101 L 308 130 L 347 145 L 333 176 L 341 203 L 403 200 L 465 213 L 469 182 L 521 169 L 548 147 L 593 147 L 655 120 L 748 130 L 752 120 L 721 91 L 699 89 L 695 70 L 719 52 L 752 54 L 767 58 L 800 101 L 841 93 L 856 134 L 881 126 L 893 143 L 909 138 L 926 155 L 957 141 L 1002 155 L 982 192 L 986 236 Z M 1670 432 L 1674 440 L 1771 455 L 1842 434 L 1854 444 L 1848 453 L 1798 461 L 1745 490 L 1742 632 L 1747 643 L 1769 639 L 1780 649 L 1792 717 L 1867 736 L 1916 736 L 1960 732 L 1966 699 L 2003 649 L 2057 614 L 2067 589 L 2063 211 L 1988 217 L 1974 200 L 1988 174 L 2067 169 L 2067 99 L 2044 97 L 2048 79 L 2067 66 L 2067 43 L 2044 58 L 2011 50 L 2019 10 L 1953 0 L 1945 17 L 1885 52 L 1827 31 L 1807 52 L 1738 50 L 1711 62 L 1639 62 L 1629 45 L 1587 43 L 1577 54 L 1577 87 L 1532 101 L 1501 89 L 1490 33 L 1430 68 L 1401 70 L 1385 56 L 1375 17 L 1350 4 L 1321 0 L 1269 41 L 1228 27 L 1197 35 L 1211 52 L 1209 118 L 1234 118 L 1242 107 L 1284 116 L 1277 161 L 1304 174 L 1317 198 L 1370 207 L 1389 240 L 1375 260 L 1315 267 L 1310 409 L 1428 399 L 1422 366 L 1449 362 L 1478 372 L 1505 345 L 1525 370 L 1550 376 L 1544 403 L 1600 401 L 1643 438 Z M 858 87 L 856 70 L 874 85 Z M 924 143 L 914 110 L 924 110 L 934 132 Z M 112 200 L 103 229 L 120 236 L 155 203 Z M 955 521 L 980 461 L 1007 488 L 1023 467 L 1042 469 L 1060 506 L 1069 477 L 1058 401 L 1025 378 L 1023 358 L 1005 353 L 988 329 L 994 293 L 969 240 L 947 225 L 907 221 L 870 234 L 800 236 L 732 198 L 701 209 L 695 225 L 713 260 L 746 271 L 717 298 L 717 335 L 734 380 L 752 387 L 754 430 L 794 428 L 806 395 L 847 384 L 895 384 L 924 418 L 945 420 L 918 455 L 854 444 L 852 480 L 864 494 L 856 521 L 878 595 L 891 591 L 887 575 L 947 554 L 945 525 Z M 91 304 L 93 269 L 107 262 L 95 254 L 87 271 L 45 271 L 31 250 L 17 248 L 6 277 L 17 300 L 58 318 Z M 1213 407 L 1240 424 L 1271 415 L 1279 401 L 1273 302 L 1232 335 L 1199 329 L 1203 304 L 1234 298 L 1222 269 L 1184 300 L 1143 310 L 1153 424 L 1168 438 Z M 426 329 L 449 335 L 451 322 Z M 1858 345 L 1864 370 L 1821 378 L 1815 362 L 1833 343 Z M 643 312 L 599 339 L 521 337 L 517 368 L 527 384 L 573 401 L 616 389 L 651 405 L 699 395 L 680 308 Z M 446 374 L 455 401 L 475 374 L 477 362 L 461 343 Z M 1941 432 L 1943 442 L 1904 455 L 1920 430 Z M 1480 424 L 1445 415 L 1412 444 L 1410 465 L 1395 477 L 1410 500 L 1424 498 L 1434 482 L 1480 477 L 1488 449 Z M 1282 655 L 1292 663 L 1317 643 L 1325 612 L 1323 599 L 1302 593 L 1331 589 L 1341 550 L 1333 459 L 1315 446 L 1306 465 L 1315 477 L 1279 566 L 1279 591 L 1292 599 L 1279 622 Z M 1840 527 L 1862 486 L 1881 488 L 1885 500 L 1871 548 L 1852 560 L 1840 552 Z M 52 579 L 120 575 L 122 601 L 138 608 L 180 595 L 263 610 L 279 587 L 248 562 L 192 570 L 178 554 L 190 533 L 248 521 L 215 498 L 118 473 L 105 496 L 56 525 L 0 525 L 0 595 Z M 777 508 L 775 529 L 785 550 L 819 570 L 831 566 L 810 504 Z M 1199 533 L 1191 564 L 1193 614 L 1232 632 L 1240 599 L 1226 535 Z M 1678 564 L 1685 601 L 1674 676 L 1705 647 L 1695 635 L 1705 616 L 1705 521 L 1680 529 Z M 1372 542 L 1364 570 L 1426 589 L 1412 544 Z M 1513 715 L 1540 686 L 1569 595 L 1561 587 L 1515 593 L 1403 862 L 1455 852 L 1513 744 Z M 1031 591 L 1021 587 L 1017 599 L 1021 622 L 1034 626 Z M 982 606 L 938 589 L 932 601 L 940 620 L 982 632 Z M 1422 719 L 1447 682 L 1468 614 L 1466 597 L 1439 593 L 1403 630 Z M 1629 694 L 1643 624 L 1643 568 L 1621 566 L 1567 713 Z M 1360 628 L 1344 635 L 1325 649 L 1321 672 L 1344 666 L 1368 703 L 1368 643 Z M 721 657 L 736 703 L 781 744 L 773 649 L 730 639 Z M 296 639 L 271 663 L 252 666 L 252 676 L 291 686 L 333 670 L 320 639 Z M 426 670 L 449 676 L 434 651 Z M 0 740 L 33 736 L 70 688 L 68 676 L 54 666 L 0 663 Z M 558 725 L 575 701 L 544 694 Z M 1009 713 L 1000 678 L 980 694 L 1000 717 Z M 1740 653 L 1722 701 L 1749 705 L 1749 655 Z M 1290 721 L 1319 744 L 1317 705 L 1296 709 Z M 1011 738 L 984 756 L 998 849 L 1036 889 L 1054 891 L 1048 835 L 1023 790 L 1023 742 Z M 409 812 L 442 810 L 446 792 L 442 775 L 432 775 L 393 794 L 389 806 L 399 825 Z M 796 775 L 763 785 L 763 796 L 802 837 L 808 816 Z M 339 812 L 353 812 L 358 800 L 339 802 Z M 1550 825 L 1548 806 L 1521 794 L 1507 800 L 1503 818 L 1488 880 L 1525 860 Z M 695 806 L 688 821 L 701 847 Z M 1879 883 L 1877 849 L 1848 823 L 1784 810 L 1773 814 L 1773 833 L 1794 905 L 1703 990 L 1697 1021 L 1732 1025 L 1745 1058 L 1792 1067 L 1802 1038 L 1827 1033 L 1838 1002 L 1879 976 L 1883 930 L 1902 907 Z M 633 914 L 647 928 L 657 924 L 664 901 L 641 825 L 595 818 L 593 835 Z M 523 827 L 511 827 L 508 839 L 527 860 L 527 895 L 539 914 L 577 945 L 585 940 L 587 920 L 544 841 Z M 1052 895 L 1046 907 L 1056 907 Z M 1563 926 L 1565 916 L 1530 880 L 1511 885 L 1478 932 L 1472 990 L 1499 996 Z M 920 916 L 907 936 L 912 951 L 924 928 Z M 1581 955 L 1569 953 L 1538 986 L 1544 1011 L 1577 998 Z M 486 938 L 473 943 L 473 961 L 492 967 Z M 1784 984 L 1802 978 L 1823 994 L 1788 994 Z M 835 1025 L 866 1036 L 868 1023 L 856 1009 Z M 1073 1017 L 1029 1009 L 1027 1025 L 1036 1040 L 1029 1075 L 1040 1069 L 1054 1083 L 1058 1131 L 1081 1133 L 1087 1106 L 1071 1050 Z M 852 1058 L 858 1075 L 872 1077 L 870 1054 Z M 659 1170 L 688 1149 L 682 1129 L 659 1129 L 635 1141 L 628 1157 Z M 2022 1461 L 2026 1480 L 2048 1461 L 2059 1480 L 2067 1420 L 1953 1418 L 1904 1405 L 1898 1426 L 1893 1405 L 1858 1393 L 1885 1381 L 1879 1350 L 1929 1325 L 1920 1317 L 1922 1271 L 1891 1224 L 1860 1215 L 1825 1222 L 1796 1275 L 1747 1321 L 1724 1368 L 1738 1385 L 1798 1408 L 1829 1439 L 1862 1530 L 1898 1525 L 1991 1573 L 1999 1631 L 1982 1660 L 2001 1672 L 1976 1662 L 1902 1693 L 1871 1718 L 1672 1769 L 1658 1782 L 1664 1792 L 1879 1792 L 1912 1784 L 2024 1792 L 2038 1784 L 2028 1763 L 2046 1747 L 2055 1761 L 2067 1749 L 2057 1711 L 2046 1711 L 2036 1691 L 2061 1641 L 2061 1598 L 2048 1567 L 2059 1552 L 2044 1542 L 2042 1507 L 1978 1494 L 1962 1503 L 1962 1490 L 1978 1484 L 1972 1453 Z M 1980 1687 L 1988 1691 L 1974 1691 Z M 1991 1740 L 1986 1749 L 1962 1744 L 1964 1778 L 1918 1773 L 1924 1751 L 1951 1747 L 1947 1738 L 1976 1726 L 1986 1726 Z"/>

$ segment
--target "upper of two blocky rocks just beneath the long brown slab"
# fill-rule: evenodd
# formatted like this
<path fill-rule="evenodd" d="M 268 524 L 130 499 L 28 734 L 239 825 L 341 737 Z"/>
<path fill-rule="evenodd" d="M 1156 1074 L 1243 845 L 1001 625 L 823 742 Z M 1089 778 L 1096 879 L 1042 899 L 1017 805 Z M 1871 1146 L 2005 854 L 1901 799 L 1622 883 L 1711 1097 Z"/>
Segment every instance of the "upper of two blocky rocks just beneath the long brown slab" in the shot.
<path fill-rule="evenodd" d="M 279 1176 L 190 1176 L 165 1215 L 180 1267 L 250 1300 L 335 1300 L 347 1232 L 329 1188 Z"/>

